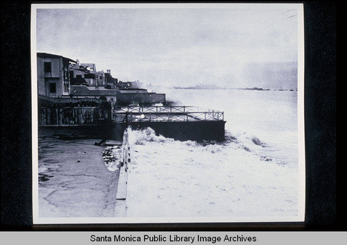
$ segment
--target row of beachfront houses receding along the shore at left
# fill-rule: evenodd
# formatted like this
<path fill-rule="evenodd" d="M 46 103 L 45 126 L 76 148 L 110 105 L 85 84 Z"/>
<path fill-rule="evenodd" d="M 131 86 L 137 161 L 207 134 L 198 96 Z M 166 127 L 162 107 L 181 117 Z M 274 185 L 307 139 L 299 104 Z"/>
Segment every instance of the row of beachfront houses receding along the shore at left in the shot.
<path fill-rule="evenodd" d="M 138 82 L 122 82 L 94 63 L 80 63 L 51 53 L 37 53 L 38 94 L 49 97 L 106 98 L 119 103 L 164 103 L 165 94 L 137 88 Z"/>

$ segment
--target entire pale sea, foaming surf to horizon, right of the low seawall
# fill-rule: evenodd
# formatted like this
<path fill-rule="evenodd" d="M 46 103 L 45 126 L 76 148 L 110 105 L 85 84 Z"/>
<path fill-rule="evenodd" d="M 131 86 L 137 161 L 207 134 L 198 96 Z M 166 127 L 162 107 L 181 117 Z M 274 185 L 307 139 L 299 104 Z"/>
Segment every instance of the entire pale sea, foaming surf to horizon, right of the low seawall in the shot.
<path fill-rule="evenodd" d="M 223 111 L 226 141 L 180 142 L 151 128 L 131 131 L 127 217 L 284 221 L 298 215 L 296 91 L 160 92 L 176 105 Z"/>

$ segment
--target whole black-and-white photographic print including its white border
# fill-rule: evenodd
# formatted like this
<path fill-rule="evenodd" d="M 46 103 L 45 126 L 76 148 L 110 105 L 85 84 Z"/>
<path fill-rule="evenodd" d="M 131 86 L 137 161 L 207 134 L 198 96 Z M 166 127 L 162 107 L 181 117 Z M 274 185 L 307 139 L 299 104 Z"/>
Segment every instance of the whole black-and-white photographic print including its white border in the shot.
<path fill-rule="evenodd" d="M 31 7 L 33 223 L 299 222 L 302 3 Z"/>

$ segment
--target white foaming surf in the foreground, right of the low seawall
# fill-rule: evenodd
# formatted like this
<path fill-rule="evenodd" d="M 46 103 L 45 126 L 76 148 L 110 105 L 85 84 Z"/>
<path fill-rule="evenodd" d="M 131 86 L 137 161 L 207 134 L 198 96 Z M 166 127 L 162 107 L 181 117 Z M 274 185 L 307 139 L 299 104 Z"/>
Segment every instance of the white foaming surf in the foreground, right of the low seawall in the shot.
<path fill-rule="evenodd" d="M 296 213 L 296 169 L 278 164 L 255 135 L 181 142 L 145 128 L 130 130 L 129 140 L 128 217 Z"/>

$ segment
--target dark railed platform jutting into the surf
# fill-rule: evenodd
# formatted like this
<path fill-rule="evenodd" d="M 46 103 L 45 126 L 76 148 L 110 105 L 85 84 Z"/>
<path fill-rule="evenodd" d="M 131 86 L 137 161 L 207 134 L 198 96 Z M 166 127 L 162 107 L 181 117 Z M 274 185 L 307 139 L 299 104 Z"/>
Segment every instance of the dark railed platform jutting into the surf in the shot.
<path fill-rule="evenodd" d="M 124 130 L 153 128 L 157 135 L 175 140 L 216 140 L 225 135 L 224 112 L 198 110 L 194 106 L 128 106 L 112 113 L 112 139 L 120 140 Z"/>

